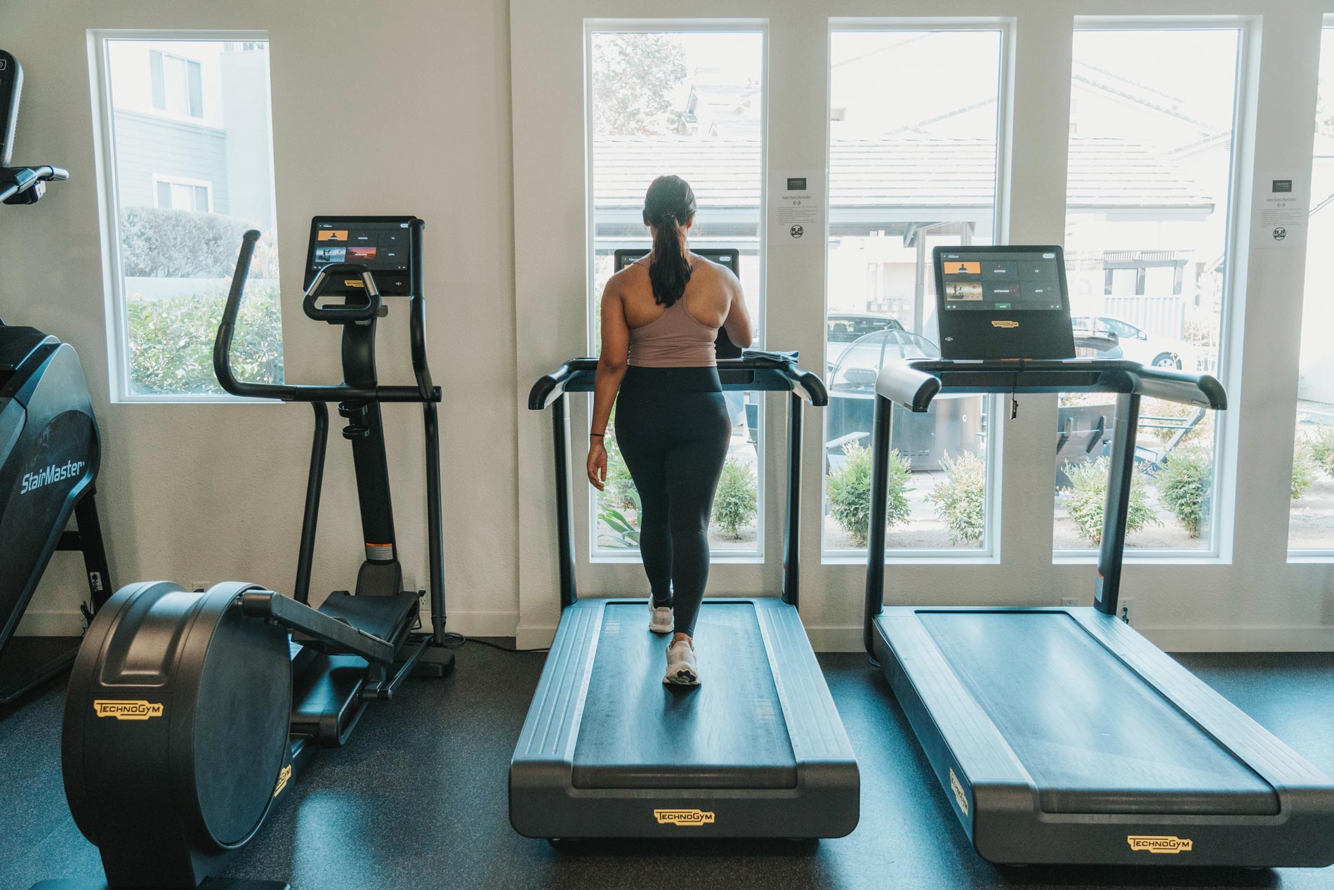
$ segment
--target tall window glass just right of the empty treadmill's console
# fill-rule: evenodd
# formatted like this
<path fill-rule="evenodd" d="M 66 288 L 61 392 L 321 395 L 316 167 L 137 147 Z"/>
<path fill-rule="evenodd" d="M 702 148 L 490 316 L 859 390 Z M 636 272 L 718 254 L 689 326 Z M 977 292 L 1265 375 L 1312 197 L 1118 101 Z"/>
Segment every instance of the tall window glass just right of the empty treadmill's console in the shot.
<path fill-rule="evenodd" d="M 1075 32 L 1066 271 L 1075 334 L 1110 338 L 1102 355 L 1226 379 L 1239 47 L 1237 28 Z M 1058 554 L 1102 538 L 1114 414 L 1106 395 L 1061 396 Z M 1217 552 L 1215 440 L 1211 412 L 1143 400 L 1127 548 Z"/>

